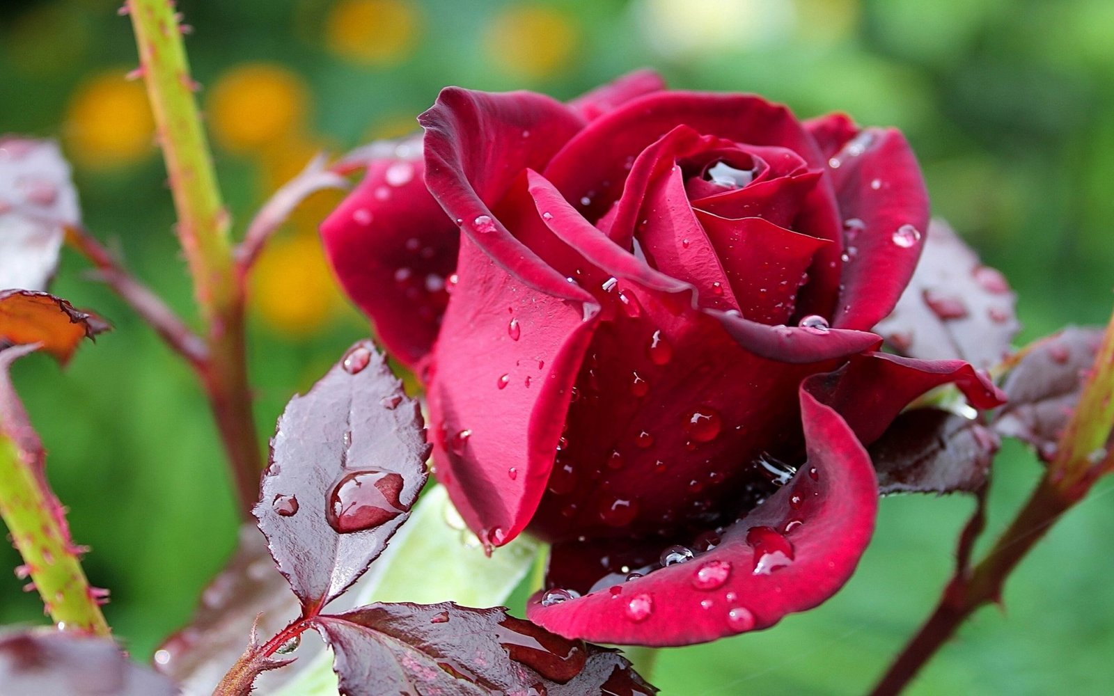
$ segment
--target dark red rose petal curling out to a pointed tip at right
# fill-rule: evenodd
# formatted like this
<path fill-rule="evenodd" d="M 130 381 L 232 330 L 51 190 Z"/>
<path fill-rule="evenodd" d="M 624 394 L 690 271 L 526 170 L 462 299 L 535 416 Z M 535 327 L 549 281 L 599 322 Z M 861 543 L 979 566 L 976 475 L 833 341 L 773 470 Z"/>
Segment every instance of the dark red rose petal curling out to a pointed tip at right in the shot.
<path fill-rule="evenodd" d="M 877 440 L 909 402 L 941 384 L 958 386 L 976 409 L 993 409 L 1006 401 L 989 375 L 961 360 L 864 353 L 813 380 L 813 392 L 840 412 L 864 444 Z"/>

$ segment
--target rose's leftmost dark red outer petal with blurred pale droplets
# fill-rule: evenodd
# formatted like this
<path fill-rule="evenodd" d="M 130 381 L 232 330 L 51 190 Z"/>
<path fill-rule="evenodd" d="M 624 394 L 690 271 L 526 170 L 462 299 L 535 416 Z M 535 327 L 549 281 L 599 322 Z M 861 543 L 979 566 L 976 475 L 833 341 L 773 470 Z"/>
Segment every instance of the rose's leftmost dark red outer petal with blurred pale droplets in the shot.
<path fill-rule="evenodd" d="M 423 170 L 421 160 L 371 161 L 363 182 L 321 225 L 344 292 L 410 367 L 437 339 L 460 236 L 426 189 Z"/>

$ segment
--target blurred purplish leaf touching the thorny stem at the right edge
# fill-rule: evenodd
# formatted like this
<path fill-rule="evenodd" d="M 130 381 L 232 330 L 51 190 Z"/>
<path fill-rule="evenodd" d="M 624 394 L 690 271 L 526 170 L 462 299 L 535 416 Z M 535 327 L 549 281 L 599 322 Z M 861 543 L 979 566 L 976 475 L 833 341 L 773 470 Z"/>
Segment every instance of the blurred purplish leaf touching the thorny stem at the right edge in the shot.
<path fill-rule="evenodd" d="M 1068 326 L 1029 350 L 1001 384 L 1009 401 L 998 409 L 995 430 L 1028 442 L 1042 459 L 1055 457 L 1102 335 L 1102 329 Z"/>

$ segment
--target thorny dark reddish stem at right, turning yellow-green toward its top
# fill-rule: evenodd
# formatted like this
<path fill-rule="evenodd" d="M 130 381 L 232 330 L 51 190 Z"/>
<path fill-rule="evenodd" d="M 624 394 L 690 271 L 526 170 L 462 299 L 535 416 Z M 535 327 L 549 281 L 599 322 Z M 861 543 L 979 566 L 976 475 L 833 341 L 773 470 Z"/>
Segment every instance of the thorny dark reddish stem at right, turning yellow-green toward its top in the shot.
<path fill-rule="evenodd" d="M 974 568 L 969 557 L 973 535 L 983 526 L 983 504 L 976 509 L 960 537 L 959 563 L 945 587 L 936 609 L 882 676 L 874 696 L 899 694 L 960 625 L 979 607 L 1001 600 L 1009 574 L 1048 529 L 1083 498 L 1104 473 L 1114 471 L 1114 454 L 1107 450 L 1114 428 L 1114 315 L 1106 326 L 1095 362 L 1083 386 L 1078 404 L 1028 501 Z"/>

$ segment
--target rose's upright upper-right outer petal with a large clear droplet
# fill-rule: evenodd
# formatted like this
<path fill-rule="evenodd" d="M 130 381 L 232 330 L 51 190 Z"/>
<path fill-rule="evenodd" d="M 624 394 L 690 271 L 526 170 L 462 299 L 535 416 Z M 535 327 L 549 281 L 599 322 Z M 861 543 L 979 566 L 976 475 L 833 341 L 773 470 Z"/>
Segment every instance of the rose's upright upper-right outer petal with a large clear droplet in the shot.
<path fill-rule="evenodd" d="M 909 284 L 928 228 L 928 192 L 898 130 L 868 128 L 829 160 L 847 263 L 832 324 L 870 329 Z"/>

